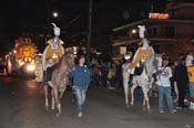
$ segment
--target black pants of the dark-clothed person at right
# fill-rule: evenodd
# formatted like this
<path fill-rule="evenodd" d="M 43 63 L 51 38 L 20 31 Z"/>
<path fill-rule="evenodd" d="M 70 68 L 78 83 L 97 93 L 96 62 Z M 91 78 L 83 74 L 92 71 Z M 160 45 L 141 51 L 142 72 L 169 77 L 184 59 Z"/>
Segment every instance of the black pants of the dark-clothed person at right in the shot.
<path fill-rule="evenodd" d="M 178 86 L 178 107 L 184 107 L 185 96 L 186 96 L 186 85 Z"/>

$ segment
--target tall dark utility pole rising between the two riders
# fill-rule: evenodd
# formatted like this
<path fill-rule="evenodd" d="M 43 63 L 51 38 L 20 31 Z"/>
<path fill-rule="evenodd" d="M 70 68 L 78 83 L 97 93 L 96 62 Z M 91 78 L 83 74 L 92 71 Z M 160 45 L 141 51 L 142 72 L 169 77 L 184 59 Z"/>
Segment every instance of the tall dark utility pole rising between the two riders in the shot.
<path fill-rule="evenodd" d="M 86 42 L 86 61 L 90 63 L 90 45 L 91 45 L 91 36 L 92 36 L 92 6 L 93 0 L 89 1 L 89 30 L 88 30 L 88 42 Z"/>

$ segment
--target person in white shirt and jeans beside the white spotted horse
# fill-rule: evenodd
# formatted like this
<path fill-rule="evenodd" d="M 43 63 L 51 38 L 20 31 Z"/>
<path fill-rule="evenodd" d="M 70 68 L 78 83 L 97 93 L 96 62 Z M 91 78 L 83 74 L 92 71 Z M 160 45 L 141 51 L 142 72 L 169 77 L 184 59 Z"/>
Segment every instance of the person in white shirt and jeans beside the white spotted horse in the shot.
<path fill-rule="evenodd" d="M 171 96 L 171 81 L 170 81 L 170 78 L 172 76 L 173 76 L 172 70 L 169 66 L 169 60 L 163 58 L 163 65 L 162 65 L 162 67 L 159 68 L 159 73 L 156 76 L 156 79 L 157 79 L 156 85 L 159 87 L 159 110 L 161 114 L 164 113 L 164 109 L 163 109 L 164 95 L 166 97 L 167 106 L 169 106 L 171 114 L 174 114 L 176 111 L 174 109 L 173 99 Z"/>

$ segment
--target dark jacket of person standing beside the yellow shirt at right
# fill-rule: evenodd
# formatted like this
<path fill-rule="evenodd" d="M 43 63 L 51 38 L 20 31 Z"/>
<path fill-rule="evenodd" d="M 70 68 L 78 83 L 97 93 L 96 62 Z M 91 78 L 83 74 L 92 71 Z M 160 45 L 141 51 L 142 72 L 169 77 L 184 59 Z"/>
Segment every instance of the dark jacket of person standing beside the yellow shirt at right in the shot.
<path fill-rule="evenodd" d="M 188 75 L 186 66 L 180 64 L 175 67 L 174 81 L 177 83 L 178 88 L 186 87 L 186 85 L 188 84 Z"/>

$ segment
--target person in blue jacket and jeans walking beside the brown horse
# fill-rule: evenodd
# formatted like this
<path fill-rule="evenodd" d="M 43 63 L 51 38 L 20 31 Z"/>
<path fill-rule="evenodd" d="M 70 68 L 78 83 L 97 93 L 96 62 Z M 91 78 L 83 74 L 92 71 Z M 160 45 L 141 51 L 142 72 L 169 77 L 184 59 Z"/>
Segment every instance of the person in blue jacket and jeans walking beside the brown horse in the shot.
<path fill-rule="evenodd" d="M 76 110 L 78 117 L 83 116 L 83 105 L 85 102 L 86 92 L 90 84 L 90 70 L 88 68 L 85 63 L 85 57 L 81 55 L 79 57 L 79 64 L 70 73 L 70 77 L 73 81 L 73 92 L 76 97 Z"/>

